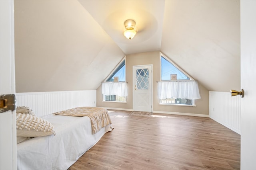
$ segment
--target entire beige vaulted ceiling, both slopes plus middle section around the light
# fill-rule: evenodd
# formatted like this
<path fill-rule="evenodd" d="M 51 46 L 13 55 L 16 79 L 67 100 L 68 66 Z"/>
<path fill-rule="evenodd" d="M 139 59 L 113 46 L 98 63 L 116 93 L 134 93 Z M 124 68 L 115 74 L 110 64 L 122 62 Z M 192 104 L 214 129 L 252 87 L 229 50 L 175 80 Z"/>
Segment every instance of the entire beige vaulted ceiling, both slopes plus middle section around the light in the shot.
<path fill-rule="evenodd" d="M 95 90 L 161 51 L 208 90 L 240 88 L 239 0 L 14 0 L 16 92 Z M 124 21 L 138 33 L 124 37 Z"/>

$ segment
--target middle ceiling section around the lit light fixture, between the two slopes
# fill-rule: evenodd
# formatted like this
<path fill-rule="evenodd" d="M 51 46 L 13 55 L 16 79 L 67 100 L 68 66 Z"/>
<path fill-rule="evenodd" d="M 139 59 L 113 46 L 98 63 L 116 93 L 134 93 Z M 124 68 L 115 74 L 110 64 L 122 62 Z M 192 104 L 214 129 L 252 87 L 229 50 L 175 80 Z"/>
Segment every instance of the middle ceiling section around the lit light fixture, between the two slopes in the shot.
<path fill-rule="evenodd" d="M 79 0 L 125 54 L 159 51 L 164 20 L 164 0 Z M 136 21 L 138 32 L 129 40 L 124 21 Z"/>

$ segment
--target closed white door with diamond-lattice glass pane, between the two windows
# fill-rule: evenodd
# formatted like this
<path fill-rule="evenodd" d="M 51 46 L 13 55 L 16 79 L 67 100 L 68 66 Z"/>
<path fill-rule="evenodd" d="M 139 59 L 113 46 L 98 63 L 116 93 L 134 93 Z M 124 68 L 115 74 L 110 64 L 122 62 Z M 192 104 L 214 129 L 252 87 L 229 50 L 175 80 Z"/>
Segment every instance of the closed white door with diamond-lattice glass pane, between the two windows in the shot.
<path fill-rule="evenodd" d="M 133 66 L 135 111 L 152 112 L 152 65 Z"/>

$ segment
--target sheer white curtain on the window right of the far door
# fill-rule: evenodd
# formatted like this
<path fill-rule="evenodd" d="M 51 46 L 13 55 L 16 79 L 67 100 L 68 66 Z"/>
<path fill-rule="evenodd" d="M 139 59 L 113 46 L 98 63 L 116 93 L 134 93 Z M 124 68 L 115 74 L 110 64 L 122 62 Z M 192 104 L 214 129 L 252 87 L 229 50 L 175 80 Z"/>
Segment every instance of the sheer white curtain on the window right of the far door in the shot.
<path fill-rule="evenodd" d="M 171 81 L 158 82 L 159 99 L 181 98 L 200 99 L 198 84 L 196 81 Z"/>

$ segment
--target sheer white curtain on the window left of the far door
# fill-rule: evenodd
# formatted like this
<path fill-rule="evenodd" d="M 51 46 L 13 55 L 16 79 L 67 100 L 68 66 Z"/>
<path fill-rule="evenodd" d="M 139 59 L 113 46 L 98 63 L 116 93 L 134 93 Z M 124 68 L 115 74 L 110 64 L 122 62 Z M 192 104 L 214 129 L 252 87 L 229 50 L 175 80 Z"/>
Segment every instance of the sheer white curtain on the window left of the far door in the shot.
<path fill-rule="evenodd" d="M 127 84 L 121 82 L 104 82 L 102 83 L 103 95 L 117 95 L 117 96 L 128 96 L 127 94 Z"/>

